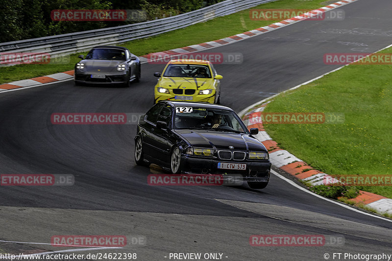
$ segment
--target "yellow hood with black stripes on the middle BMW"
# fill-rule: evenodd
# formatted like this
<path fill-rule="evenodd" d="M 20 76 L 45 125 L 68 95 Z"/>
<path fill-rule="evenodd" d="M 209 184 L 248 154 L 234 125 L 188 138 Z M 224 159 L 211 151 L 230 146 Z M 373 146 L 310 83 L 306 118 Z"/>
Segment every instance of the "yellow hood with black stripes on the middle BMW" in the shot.
<path fill-rule="evenodd" d="M 191 78 L 191 77 L 161 77 L 158 82 L 159 87 L 166 89 L 213 89 L 213 78 Z M 185 88 L 184 88 L 185 87 Z"/>

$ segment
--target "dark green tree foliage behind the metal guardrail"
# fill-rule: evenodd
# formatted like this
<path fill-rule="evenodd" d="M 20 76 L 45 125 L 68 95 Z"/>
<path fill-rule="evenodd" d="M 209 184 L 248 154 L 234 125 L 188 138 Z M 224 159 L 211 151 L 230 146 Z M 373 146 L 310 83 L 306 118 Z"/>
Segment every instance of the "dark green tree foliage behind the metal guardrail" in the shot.
<path fill-rule="evenodd" d="M 56 9 L 142 9 L 147 20 L 193 11 L 221 0 L 0 0 L 0 43 L 135 22 L 52 21 Z"/>

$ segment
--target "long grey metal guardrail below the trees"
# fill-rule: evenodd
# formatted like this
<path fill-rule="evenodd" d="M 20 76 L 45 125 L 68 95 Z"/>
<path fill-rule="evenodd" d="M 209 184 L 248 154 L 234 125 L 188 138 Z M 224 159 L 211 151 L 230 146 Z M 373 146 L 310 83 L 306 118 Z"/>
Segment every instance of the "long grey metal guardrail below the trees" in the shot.
<path fill-rule="evenodd" d="M 0 43 L 1 52 L 44 52 L 67 55 L 87 51 L 97 45 L 116 45 L 155 36 L 192 24 L 205 22 L 275 0 L 226 0 L 189 13 L 168 18 L 69 34 Z M 208 32 L 206 32 L 208 33 Z"/>

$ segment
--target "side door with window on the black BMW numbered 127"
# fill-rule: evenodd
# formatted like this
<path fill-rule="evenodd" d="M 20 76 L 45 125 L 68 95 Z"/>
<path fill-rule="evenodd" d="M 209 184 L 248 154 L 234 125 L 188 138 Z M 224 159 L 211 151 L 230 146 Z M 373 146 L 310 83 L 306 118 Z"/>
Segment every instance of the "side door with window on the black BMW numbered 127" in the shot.
<path fill-rule="evenodd" d="M 163 106 L 159 112 L 157 121 L 166 122 L 167 128 L 162 129 L 155 127 L 154 131 L 151 132 L 151 143 L 154 150 L 152 153 L 157 160 L 164 163 L 170 162 L 171 142 L 169 140 L 172 125 L 172 112 L 173 110 L 170 105 Z"/>

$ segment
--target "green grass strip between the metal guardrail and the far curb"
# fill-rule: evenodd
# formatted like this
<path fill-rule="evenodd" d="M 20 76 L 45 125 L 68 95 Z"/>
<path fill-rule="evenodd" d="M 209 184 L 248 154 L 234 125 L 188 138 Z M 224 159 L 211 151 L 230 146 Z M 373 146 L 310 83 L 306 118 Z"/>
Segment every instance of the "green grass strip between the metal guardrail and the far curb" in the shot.
<path fill-rule="evenodd" d="M 279 0 L 252 7 L 251 9 L 316 9 L 333 1 L 321 0 Z M 218 17 L 205 23 L 199 23 L 178 29 L 162 35 L 131 41 L 122 46 L 127 47 L 136 55 L 145 55 L 157 51 L 165 51 L 178 47 L 200 44 L 218 40 L 238 33 L 256 29 L 279 21 L 253 21 L 249 18 L 249 9 L 232 15 Z M 0 83 L 44 76 L 51 73 L 70 71 L 80 59 L 77 53 L 70 55 L 67 64 L 37 64 L 37 65 L 15 65 L 11 67 L 0 67 Z"/>

